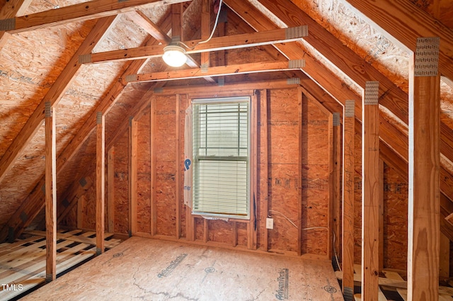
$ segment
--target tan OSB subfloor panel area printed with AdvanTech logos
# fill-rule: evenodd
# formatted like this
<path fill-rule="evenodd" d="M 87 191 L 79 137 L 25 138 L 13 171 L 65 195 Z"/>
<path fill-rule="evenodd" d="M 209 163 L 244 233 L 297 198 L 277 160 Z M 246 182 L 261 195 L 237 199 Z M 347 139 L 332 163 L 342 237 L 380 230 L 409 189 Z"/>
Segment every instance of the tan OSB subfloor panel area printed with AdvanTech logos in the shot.
<path fill-rule="evenodd" d="M 327 261 L 132 237 L 23 300 L 343 300 Z"/>

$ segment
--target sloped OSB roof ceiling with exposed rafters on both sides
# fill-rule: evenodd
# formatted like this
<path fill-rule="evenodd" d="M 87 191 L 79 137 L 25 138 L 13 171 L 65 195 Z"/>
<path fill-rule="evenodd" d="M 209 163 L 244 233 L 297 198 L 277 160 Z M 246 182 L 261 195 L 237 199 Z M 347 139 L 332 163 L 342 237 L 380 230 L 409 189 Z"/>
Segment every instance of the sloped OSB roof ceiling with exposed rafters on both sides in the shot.
<path fill-rule="evenodd" d="M 185 40 L 201 37 L 202 0 L 142 1 L 146 2 L 141 6 L 106 0 L 0 2 L 3 5 L 0 29 L 6 30 L 0 32 L 3 95 L 0 99 L 0 240 L 20 234 L 37 215 L 40 217 L 44 205 L 45 102 L 56 108 L 57 191 L 59 200 L 63 200 L 81 179 L 86 180 L 84 176 L 95 165 L 96 112 L 105 114 L 106 141 L 111 143 L 127 128 L 129 116 L 146 106 L 154 89 L 217 84 L 217 79 L 208 77 L 156 83 L 125 80 L 131 74 L 165 71 L 167 67 L 160 57 L 100 64 L 79 62 L 80 55 L 89 53 L 166 45 L 172 31 L 179 31 L 171 28 L 175 6 L 182 10 Z M 135 5 L 140 3 L 136 1 Z M 228 50 L 238 52 L 238 56 L 260 59 L 263 55 L 253 52 L 265 53 L 268 61 L 303 58 L 306 67 L 302 70 L 227 76 L 226 84 L 299 77 L 302 86 L 328 110 L 341 113 L 346 99 L 356 100 L 356 118 L 360 121 L 365 82 L 379 81 L 384 143 L 381 154 L 387 164 L 406 177 L 411 39 L 419 35 L 441 35 L 442 215 L 447 217 L 452 213 L 453 4 L 450 1 L 382 0 L 377 4 L 377 1 L 359 0 L 224 0 L 222 10 L 227 12 L 228 22 L 235 25 L 235 30 L 229 27 L 227 36 L 309 26 L 309 35 L 298 42 Z M 176 10 L 174 16 L 175 13 Z M 217 29 L 216 36 L 222 36 L 220 30 Z M 200 67 L 201 55 L 195 53 L 192 57 L 193 62 L 181 69 Z M 212 59 L 212 66 L 219 61 Z M 236 64 L 234 59 L 227 62 L 231 64 Z M 448 219 L 442 225 L 442 231 L 453 239 L 453 227 Z"/>

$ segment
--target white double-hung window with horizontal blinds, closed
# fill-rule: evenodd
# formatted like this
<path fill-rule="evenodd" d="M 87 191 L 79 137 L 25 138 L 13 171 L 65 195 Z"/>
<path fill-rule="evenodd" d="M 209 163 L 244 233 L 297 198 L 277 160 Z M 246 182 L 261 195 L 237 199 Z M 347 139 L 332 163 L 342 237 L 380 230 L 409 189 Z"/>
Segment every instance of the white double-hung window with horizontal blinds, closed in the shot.
<path fill-rule="evenodd" d="M 249 217 L 250 98 L 193 101 L 193 213 Z"/>

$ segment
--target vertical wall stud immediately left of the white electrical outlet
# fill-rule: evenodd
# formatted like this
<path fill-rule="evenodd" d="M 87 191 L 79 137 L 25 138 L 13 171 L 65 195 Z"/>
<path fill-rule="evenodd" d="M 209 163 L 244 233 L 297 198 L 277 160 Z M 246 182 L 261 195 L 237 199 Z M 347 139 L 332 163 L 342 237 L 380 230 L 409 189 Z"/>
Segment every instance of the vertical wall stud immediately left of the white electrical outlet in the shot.
<path fill-rule="evenodd" d="M 263 235 L 261 245 L 265 251 L 269 249 L 268 243 L 268 228 L 265 227 L 266 218 L 268 218 L 269 210 L 269 169 L 268 169 L 268 91 L 260 91 L 260 204 L 261 220 L 264 224 Z M 299 182 L 300 183 L 300 182 Z"/>

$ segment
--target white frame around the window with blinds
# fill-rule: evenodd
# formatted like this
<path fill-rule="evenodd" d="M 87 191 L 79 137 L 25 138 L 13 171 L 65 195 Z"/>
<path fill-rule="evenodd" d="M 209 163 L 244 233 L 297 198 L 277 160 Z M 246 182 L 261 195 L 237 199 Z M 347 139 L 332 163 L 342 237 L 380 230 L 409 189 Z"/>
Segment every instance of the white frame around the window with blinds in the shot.
<path fill-rule="evenodd" d="M 200 216 L 207 216 L 207 217 L 213 217 L 213 218 L 226 218 L 226 219 L 232 219 L 232 220 L 251 220 L 251 200 L 252 200 L 252 187 L 251 187 L 251 180 L 252 180 L 252 117 L 253 117 L 253 112 L 252 112 L 252 98 L 251 96 L 222 96 L 219 98 L 195 98 L 192 100 L 192 106 L 193 106 L 193 130 L 192 130 L 192 135 L 193 135 L 193 189 L 192 189 L 192 214 L 193 215 L 200 215 Z M 197 190 L 195 188 L 195 178 L 197 177 L 195 172 L 197 169 L 197 164 L 199 159 L 197 159 L 199 156 L 197 152 L 195 152 L 196 149 L 196 139 L 195 135 L 197 131 L 196 128 L 196 120 L 197 116 L 197 110 L 195 109 L 195 106 L 197 105 L 215 105 L 215 104 L 222 104 L 222 103 L 247 103 L 247 156 L 246 156 L 246 176 L 247 176 L 247 185 L 246 185 L 246 193 L 247 193 L 247 199 L 246 199 L 246 208 L 247 208 L 247 213 L 246 215 L 238 215 L 238 214 L 225 214 L 225 213 L 214 213 L 214 212 L 203 212 L 202 210 L 195 210 L 195 191 Z M 238 149 L 240 148 L 240 145 L 238 145 Z M 202 156 L 204 157 L 204 156 Z M 226 159 L 219 157 L 220 160 L 225 160 Z M 236 158 L 243 158 L 240 156 L 237 156 Z M 231 159 L 229 159 L 231 161 Z M 243 159 L 237 159 L 234 161 L 243 161 Z"/>

